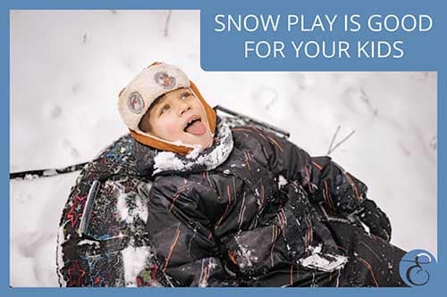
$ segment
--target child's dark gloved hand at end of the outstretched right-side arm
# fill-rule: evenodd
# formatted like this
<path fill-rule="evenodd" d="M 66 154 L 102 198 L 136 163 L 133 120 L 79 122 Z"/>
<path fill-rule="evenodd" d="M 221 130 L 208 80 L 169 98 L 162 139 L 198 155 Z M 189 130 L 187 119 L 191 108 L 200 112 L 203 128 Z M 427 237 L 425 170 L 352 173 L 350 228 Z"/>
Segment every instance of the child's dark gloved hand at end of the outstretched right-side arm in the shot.
<path fill-rule="evenodd" d="M 374 201 L 365 199 L 362 202 L 358 218 L 369 227 L 369 231 L 387 242 L 391 239 L 392 227 L 390 219 L 386 217 L 384 211 L 380 210 Z"/>

